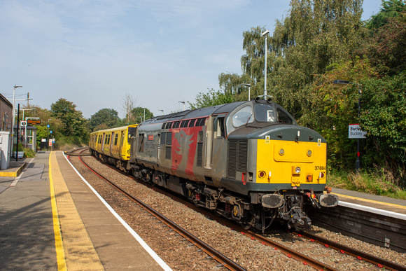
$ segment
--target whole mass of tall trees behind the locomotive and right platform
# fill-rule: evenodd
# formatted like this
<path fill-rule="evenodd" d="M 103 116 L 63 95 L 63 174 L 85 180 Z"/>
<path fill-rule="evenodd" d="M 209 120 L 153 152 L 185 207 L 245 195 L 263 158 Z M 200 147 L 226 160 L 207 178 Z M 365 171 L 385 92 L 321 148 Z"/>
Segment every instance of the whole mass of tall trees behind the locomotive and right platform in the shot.
<path fill-rule="evenodd" d="M 267 94 L 300 125 L 328 141 L 328 165 L 354 169 L 356 140 L 348 125 L 360 123 L 361 167 L 387 172 L 406 186 L 406 4 L 382 1 L 381 11 L 361 20 L 362 0 L 291 0 L 267 44 Z M 222 90 L 197 96 L 195 108 L 251 98 L 264 89 L 265 27 L 244 32 L 242 74 L 218 76 Z M 334 85 L 333 81 L 350 81 Z M 361 100 L 358 116 L 358 99 Z"/>

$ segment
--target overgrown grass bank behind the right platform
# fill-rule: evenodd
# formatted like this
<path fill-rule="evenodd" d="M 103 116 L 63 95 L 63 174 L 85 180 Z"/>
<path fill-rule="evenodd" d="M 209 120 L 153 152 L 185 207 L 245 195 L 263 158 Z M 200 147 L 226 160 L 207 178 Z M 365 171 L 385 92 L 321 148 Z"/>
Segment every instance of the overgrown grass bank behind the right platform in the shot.
<path fill-rule="evenodd" d="M 402 190 L 385 172 L 361 171 L 356 174 L 332 169 L 327 176 L 327 184 L 335 188 L 406 200 L 406 190 Z"/>

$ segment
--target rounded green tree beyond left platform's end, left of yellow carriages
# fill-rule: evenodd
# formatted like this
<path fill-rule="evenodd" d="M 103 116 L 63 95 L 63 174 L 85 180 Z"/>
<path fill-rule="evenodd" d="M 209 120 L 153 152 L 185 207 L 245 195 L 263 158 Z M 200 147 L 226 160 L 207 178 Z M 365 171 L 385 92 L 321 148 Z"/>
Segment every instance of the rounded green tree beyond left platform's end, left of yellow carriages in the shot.
<path fill-rule="evenodd" d="M 76 104 L 60 98 L 50 106 L 51 117 L 61 121 L 61 134 L 75 143 L 87 141 L 87 120 L 82 112 L 76 110 Z M 56 135 L 55 135 L 56 137 Z"/>

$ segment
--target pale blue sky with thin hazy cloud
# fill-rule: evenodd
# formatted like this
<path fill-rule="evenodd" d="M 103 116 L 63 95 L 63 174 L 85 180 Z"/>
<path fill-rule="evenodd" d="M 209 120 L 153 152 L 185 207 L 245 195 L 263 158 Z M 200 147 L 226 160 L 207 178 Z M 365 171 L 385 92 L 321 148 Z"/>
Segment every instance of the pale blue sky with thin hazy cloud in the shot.
<path fill-rule="evenodd" d="M 50 109 L 64 98 L 85 118 L 125 117 L 123 99 L 154 116 L 183 110 L 218 75 L 241 74 L 242 34 L 288 14 L 288 0 L 1 0 L 0 93 Z M 364 0 L 363 20 L 381 0 Z"/>

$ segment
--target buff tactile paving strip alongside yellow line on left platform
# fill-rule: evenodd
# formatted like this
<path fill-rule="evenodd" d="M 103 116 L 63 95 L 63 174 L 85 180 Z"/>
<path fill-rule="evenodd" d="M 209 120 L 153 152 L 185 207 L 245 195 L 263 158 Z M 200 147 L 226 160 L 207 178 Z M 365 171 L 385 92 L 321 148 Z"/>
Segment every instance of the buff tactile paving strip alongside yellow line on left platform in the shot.
<path fill-rule="evenodd" d="M 104 270 L 59 169 L 56 153 L 53 151 L 50 154 L 49 164 L 52 165 L 52 180 L 67 269 Z"/>

